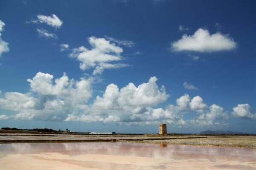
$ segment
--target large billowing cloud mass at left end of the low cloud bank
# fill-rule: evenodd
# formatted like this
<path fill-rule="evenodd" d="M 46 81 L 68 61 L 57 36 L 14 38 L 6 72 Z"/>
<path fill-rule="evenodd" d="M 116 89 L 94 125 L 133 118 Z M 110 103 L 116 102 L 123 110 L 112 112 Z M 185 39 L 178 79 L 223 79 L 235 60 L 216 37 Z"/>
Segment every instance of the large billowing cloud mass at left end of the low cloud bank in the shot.
<path fill-rule="evenodd" d="M 17 112 L 15 119 L 63 121 L 68 114 L 87 108 L 93 93 L 92 77 L 75 81 L 64 73 L 53 82 L 51 74 L 38 72 L 28 82 L 31 92 L 6 92 L 0 97 L 0 108 Z"/>

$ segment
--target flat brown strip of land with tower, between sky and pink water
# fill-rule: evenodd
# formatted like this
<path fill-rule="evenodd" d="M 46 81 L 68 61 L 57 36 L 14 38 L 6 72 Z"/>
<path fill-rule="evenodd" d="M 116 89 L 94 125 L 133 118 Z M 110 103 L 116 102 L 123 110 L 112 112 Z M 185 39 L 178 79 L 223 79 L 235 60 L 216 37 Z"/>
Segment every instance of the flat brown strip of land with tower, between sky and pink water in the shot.
<path fill-rule="evenodd" d="M 199 145 L 219 147 L 243 147 L 256 149 L 256 136 L 207 136 L 207 135 L 90 135 L 90 134 L 35 134 L 0 133 L 1 143 L 38 142 L 141 142 L 157 144 Z"/>

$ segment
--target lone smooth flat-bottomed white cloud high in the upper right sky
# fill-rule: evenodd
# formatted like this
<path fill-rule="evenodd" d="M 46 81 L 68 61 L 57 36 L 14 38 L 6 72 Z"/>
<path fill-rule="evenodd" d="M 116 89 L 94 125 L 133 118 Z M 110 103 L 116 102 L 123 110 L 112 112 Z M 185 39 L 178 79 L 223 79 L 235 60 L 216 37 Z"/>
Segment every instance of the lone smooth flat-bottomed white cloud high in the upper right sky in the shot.
<path fill-rule="evenodd" d="M 171 43 L 173 51 L 216 52 L 235 49 L 237 43 L 228 34 L 210 34 L 199 28 L 193 35 L 184 34 L 180 40 Z"/>

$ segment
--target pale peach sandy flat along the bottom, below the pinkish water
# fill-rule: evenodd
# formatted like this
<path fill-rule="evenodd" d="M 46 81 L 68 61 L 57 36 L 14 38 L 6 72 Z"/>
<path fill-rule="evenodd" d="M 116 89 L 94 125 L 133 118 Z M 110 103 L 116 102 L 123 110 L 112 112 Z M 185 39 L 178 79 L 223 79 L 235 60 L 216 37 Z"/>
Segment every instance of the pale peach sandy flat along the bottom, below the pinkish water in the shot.
<path fill-rule="evenodd" d="M 22 161 L 21 161 L 22 160 Z M 254 170 L 256 162 L 218 161 L 209 159 L 166 159 L 139 156 L 60 153 L 8 155 L 0 159 L 1 170 Z"/>

